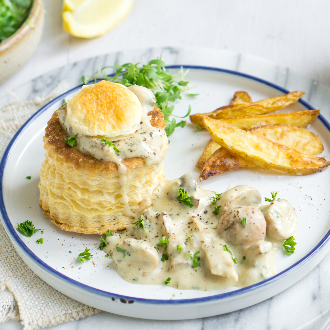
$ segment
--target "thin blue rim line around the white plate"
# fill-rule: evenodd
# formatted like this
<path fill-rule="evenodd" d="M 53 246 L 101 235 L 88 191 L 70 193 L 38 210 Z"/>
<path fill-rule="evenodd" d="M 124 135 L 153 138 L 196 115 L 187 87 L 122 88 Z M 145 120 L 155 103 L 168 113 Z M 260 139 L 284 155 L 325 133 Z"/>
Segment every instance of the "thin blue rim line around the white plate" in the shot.
<path fill-rule="evenodd" d="M 232 70 L 226 70 L 226 69 L 220 69 L 220 68 L 214 68 L 214 67 L 207 67 L 207 66 L 197 66 L 197 65 L 169 65 L 166 66 L 167 69 L 197 69 L 197 70 L 208 70 L 208 71 L 217 71 L 217 72 L 223 72 L 223 73 L 228 73 L 228 74 L 232 74 L 232 75 L 236 75 L 236 76 L 241 76 L 244 78 L 248 78 L 257 82 L 261 82 L 265 85 L 268 85 L 270 87 L 273 87 L 274 89 L 277 89 L 283 93 L 289 93 L 289 90 L 278 86 L 272 82 L 268 82 L 266 80 L 254 77 L 254 76 L 250 76 L 241 72 L 237 72 L 237 71 L 232 71 Z M 90 82 L 93 83 L 93 82 Z M 291 270 L 294 270 L 295 268 L 297 268 L 298 266 L 301 266 L 304 262 L 307 262 L 307 260 L 313 256 L 318 250 L 320 250 L 325 242 L 328 240 L 329 236 L 330 236 L 330 230 L 324 235 L 324 237 L 322 238 L 322 240 L 316 245 L 315 248 L 313 248 L 308 254 L 306 254 L 303 258 L 301 258 L 299 261 L 297 261 L 295 264 L 293 264 L 292 266 L 290 266 L 289 268 L 285 269 L 284 271 L 282 271 L 279 274 L 276 274 L 275 276 L 271 277 L 270 279 L 258 282 L 256 284 L 244 287 L 244 288 L 240 288 L 234 291 L 230 291 L 230 292 L 226 292 L 226 293 L 221 293 L 221 294 L 216 294 L 214 296 L 209 296 L 209 297 L 203 297 L 203 298 L 192 298 L 192 299 L 178 299 L 178 300 L 161 300 L 161 299 L 146 299 L 146 298 L 136 298 L 136 297 L 130 297 L 130 296 L 123 296 L 123 295 L 119 295 L 116 293 L 111 293 L 111 292 L 107 292 L 107 291 L 103 291 L 100 289 L 96 289 L 93 288 L 91 286 L 88 286 L 86 284 L 82 284 L 78 281 L 72 280 L 71 278 L 61 274 L 60 272 L 56 271 L 55 269 L 51 268 L 49 265 L 47 265 L 45 262 L 43 262 L 41 259 L 39 259 L 34 253 L 32 253 L 32 251 L 20 240 L 19 236 L 17 235 L 17 231 L 16 229 L 13 227 L 13 225 L 11 224 L 9 217 L 7 215 L 7 211 L 4 205 L 4 199 L 3 199 L 3 172 L 4 172 L 4 168 L 6 166 L 6 162 L 7 162 L 7 158 L 10 154 L 10 151 L 16 141 L 16 139 L 18 138 L 18 136 L 20 135 L 20 133 L 27 127 L 27 125 L 33 121 L 36 117 L 38 117 L 41 113 L 43 113 L 44 111 L 46 111 L 51 105 L 53 105 L 54 103 L 56 103 L 57 101 L 65 98 L 65 96 L 67 96 L 68 94 L 71 94 L 72 92 L 74 92 L 75 90 L 78 90 L 82 87 L 82 85 L 79 85 L 77 87 L 74 87 L 70 90 L 68 90 L 67 92 L 57 96 L 55 99 L 53 99 L 52 101 L 50 101 L 49 103 L 47 103 L 46 105 L 44 105 L 42 108 L 40 108 L 39 111 L 37 111 L 33 116 L 31 116 L 21 127 L 20 129 L 17 131 L 17 133 L 15 134 L 15 136 L 13 137 L 13 139 L 10 141 L 9 145 L 7 146 L 1 162 L 0 162 L 0 214 L 1 214 L 1 218 L 3 221 L 3 224 L 6 228 L 6 230 L 11 234 L 12 239 L 15 240 L 16 244 L 20 246 L 20 248 L 23 249 L 23 251 L 26 253 L 26 255 L 33 259 L 38 266 L 44 268 L 48 273 L 51 273 L 52 275 L 54 275 L 55 277 L 59 277 L 62 280 L 64 280 L 65 282 L 67 282 L 67 284 L 71 284 L 71 285 L 75 285 L 78 288 L 90 291 L 91 293 L 97 293 L 99 295 L 103 295 L 103 296 L 107 296 L 109 298 L 124 298 L 126 300 L 131 300 L 134 299 L 136 302 L 141 302 L 141 303 L 149 303 L 149 304 L 187 304 L 187 303 L 200 303 L 200 302 L 207 302 L 207 301 L 212 301 L 212 300 L 218 300 L 218 299 L 223 299 L 223 298 L 229 298 L 233 295 L 242 295 L 244 293 L 253 291 L 255 289 L 258 288 L 262 288 L 265 285 L 268 285 L 274 281 L 276 281 L 279 277 L 285 276 L 288 272 L 290 272 Z M 300 99 L 298 101 L 299 103 L 301 103 L 304 107 L 306 107 L 309 110 L 315 110 L 315 108 L 313 108 L 309 103 L 307 103 L 306 101 Z M 321 120 L 321 122 L 324 124 L 324 126 L 330 131 L 330 123 L 322 116 L 322 115 L 318 115 L 318 118 Z"/>

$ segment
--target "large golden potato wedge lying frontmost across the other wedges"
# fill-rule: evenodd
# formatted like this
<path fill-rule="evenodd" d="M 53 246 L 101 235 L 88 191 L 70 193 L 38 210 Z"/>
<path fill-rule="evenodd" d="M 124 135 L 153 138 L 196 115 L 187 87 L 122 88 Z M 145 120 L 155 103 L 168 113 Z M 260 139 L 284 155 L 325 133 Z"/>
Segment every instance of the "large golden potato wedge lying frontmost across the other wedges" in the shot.
<path fill-rule="evenodd" d="M 323 157 L 304 154 L 205 115 L 202 118 L 213 140 L 253 165 L 282 173 L 308 175 L 330 164 Z"/>

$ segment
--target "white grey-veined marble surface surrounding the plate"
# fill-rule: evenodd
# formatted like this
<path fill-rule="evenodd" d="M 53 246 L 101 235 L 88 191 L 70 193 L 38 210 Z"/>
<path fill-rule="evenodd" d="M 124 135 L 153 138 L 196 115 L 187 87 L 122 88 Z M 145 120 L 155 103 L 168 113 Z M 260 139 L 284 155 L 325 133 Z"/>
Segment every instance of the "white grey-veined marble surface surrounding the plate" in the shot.
<path fill-rule="evenodd" d="M 98 64 L 122 62 L 134 53 L 139 60 L 157 56 L 160 49 L 122 49 L 171 45 L 164 51 L 168 64 L 203 64 L 249 73 L 288 89 L 306 90 L 305 99 L 320 107 L 330 119 L 329 38 L 330 2 L 251 0 L 150 1 L 136 0 L 127 19 L 107 35 L 80 40 L 61 31 L 60 1 L 46 0 L 44 36 L 27 65 L 0 85 L 0 105 L 13 100 L 6 90 L 23 99 L 49 92 L 66 80 L 73 87 L 82 74 L 91 74 Z M 176 47 L 208 47 L 214 50 L 182 50 Z M 228 49 L 228 50 L 224 50 Z M 256 55 L 264 60 L 255 58 Z M 275 65 L 272 61 L 279 63 Z M 56 68 L 65 65 L 65 68 Z M 288 67 L 290 69 L 288 69 Z M 47 73 L 53 70 L 51 73 Z M 297 73 L 298 72 L 298 73 Z M 42 77 L 34 79 L 42 75 Z M 313 79 L 305 78 L 313 77 Z M 31 83 L 18 85 L 32 80 Z M 230 314 L 187 321 L 149 321 L 101 313 L 52 327 L 53 329 L 328 329 L 330 317 L 330 255 L 303 280 L 258 305 Z M 19 322 L 0 324 L 0 329 L 21 329 Z"/>

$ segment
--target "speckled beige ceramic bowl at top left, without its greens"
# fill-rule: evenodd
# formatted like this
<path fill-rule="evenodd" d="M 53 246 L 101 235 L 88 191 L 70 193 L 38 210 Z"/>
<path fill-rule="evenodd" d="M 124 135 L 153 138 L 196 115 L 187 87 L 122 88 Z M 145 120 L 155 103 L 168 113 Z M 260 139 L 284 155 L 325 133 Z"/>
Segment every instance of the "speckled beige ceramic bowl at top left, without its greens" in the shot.
<path fill-rule="evenodd" d="M 43 0 L 33 0 L 29 16 L 21 27 L 0 43 L 0 83 L 13 76 L 36 50 L 44 26 Z"/>

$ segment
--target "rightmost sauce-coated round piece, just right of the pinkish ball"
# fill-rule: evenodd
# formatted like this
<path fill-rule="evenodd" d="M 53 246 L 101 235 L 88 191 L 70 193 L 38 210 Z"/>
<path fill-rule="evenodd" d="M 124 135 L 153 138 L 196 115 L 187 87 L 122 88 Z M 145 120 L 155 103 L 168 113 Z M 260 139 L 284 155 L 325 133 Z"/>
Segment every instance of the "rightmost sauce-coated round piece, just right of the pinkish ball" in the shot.
<path fill-rule="evenodd" d="M 297 214 L 285 199 L 271 202 L 266 210 L 265 219 L 267 235 L 275 240 L 286 240 L 297 230 Z"/>

